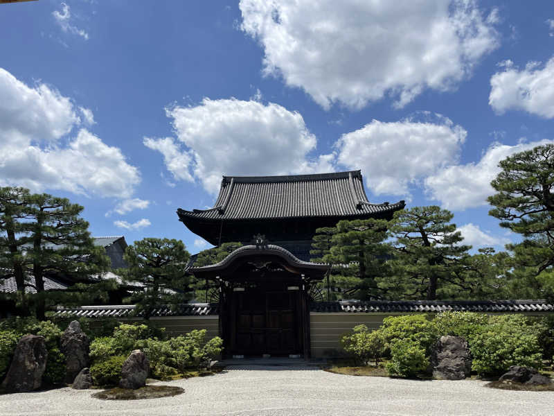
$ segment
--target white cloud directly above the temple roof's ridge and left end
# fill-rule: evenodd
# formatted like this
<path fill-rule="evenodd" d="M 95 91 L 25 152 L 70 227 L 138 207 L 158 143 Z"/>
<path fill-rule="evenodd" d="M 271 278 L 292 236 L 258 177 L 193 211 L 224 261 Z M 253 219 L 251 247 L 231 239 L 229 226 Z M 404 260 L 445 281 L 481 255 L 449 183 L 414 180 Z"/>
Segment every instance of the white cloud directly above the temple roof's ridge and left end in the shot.
<path fill-rule="evenodd" d="M 316 137 L 298 112 L 274 103 L 204 98 L 195 107 L 172 107 L 177 139 L 144 139 L 162 153 L 175 180 L 199 180 L 217 193 L 222 175 L 287 175 L 333 171 L 332 155 L 309 159 Z"/>

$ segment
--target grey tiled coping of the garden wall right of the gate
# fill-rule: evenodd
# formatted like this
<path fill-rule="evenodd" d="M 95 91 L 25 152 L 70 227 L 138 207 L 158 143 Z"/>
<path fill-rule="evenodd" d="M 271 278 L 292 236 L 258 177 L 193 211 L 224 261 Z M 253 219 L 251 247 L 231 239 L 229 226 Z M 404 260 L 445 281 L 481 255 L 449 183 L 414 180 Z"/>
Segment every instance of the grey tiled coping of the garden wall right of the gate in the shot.
<path fill-rule="evenodd" d="M 389 312 L 551 312 L 554 304 L 546 300 L 409 300 L 314 302 L 312 312 L 389 313 Z"/>

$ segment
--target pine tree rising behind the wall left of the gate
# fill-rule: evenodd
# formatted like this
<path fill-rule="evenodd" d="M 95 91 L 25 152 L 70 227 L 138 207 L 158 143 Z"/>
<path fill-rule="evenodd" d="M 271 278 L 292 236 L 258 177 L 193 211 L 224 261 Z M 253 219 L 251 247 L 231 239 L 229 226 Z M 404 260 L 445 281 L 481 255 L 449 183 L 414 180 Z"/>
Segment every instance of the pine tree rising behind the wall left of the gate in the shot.
<path fill-rule="evenodd" d="M 123 259 L 129 268 L 118 273 L 127 283 L 143 286 L 132 296 L 136 311 L 148 319 L 157 306 L 186 302 L 191 291 L 185 270 L 189 258 L 184 243 L 175 239 L 147 238 L 127 246 Z"/>

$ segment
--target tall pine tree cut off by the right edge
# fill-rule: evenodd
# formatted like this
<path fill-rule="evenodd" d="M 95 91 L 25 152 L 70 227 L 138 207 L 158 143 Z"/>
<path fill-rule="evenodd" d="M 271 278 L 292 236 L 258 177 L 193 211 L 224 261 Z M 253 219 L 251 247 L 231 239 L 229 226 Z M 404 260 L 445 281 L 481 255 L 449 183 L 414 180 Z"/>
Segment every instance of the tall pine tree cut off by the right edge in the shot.
<path fill-rule="evenodd" d="M 506 246 L 513 254 L 512 295 L 554 297 L 554 145 L 515 153 L 499 167 L 489 214 L 523 237 Z"/>

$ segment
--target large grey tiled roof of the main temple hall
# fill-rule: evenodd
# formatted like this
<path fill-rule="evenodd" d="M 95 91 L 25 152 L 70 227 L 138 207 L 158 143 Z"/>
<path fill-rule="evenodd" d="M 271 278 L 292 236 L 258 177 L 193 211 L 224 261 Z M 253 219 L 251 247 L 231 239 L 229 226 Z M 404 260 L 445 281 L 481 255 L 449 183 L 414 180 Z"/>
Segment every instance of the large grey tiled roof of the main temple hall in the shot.
<path fill-rule="evenodd" d="M 289 176 L 224 176 L 211 209 L 178 209 L 181 220 L 364 216 L 404 208 L 368 202 L 360 171 Z"/>

